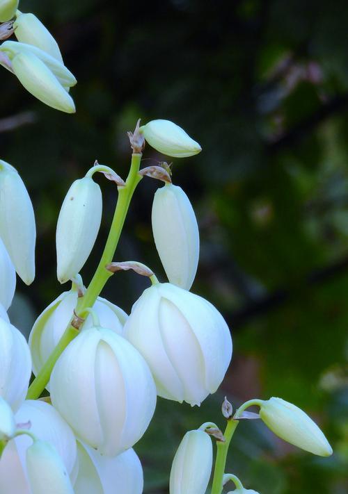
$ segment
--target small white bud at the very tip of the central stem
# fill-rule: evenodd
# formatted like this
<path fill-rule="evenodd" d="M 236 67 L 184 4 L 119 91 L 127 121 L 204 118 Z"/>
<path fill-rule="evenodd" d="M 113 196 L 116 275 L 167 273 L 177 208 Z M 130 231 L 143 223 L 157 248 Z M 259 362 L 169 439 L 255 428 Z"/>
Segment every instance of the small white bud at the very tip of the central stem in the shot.
<path fill-rule="evenodd" d="M 140 131 L 150 146 L 166 156 L 186 158 L 202 151 L 198 142 L 170 120 L 151 120 Z"/>

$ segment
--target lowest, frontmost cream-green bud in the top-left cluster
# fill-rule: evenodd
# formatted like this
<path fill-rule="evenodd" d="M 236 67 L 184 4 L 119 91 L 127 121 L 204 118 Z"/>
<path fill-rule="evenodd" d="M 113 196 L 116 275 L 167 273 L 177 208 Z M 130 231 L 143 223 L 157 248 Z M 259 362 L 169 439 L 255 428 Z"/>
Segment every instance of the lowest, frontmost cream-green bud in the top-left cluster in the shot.
<path fill-rule="evenodd" d="M 40 58 L 29 51 L 23 51 L 17 53 L 11 63 L 19 81 L 35 98 L 56 110 L 74 113 L 72 97 Z"/>

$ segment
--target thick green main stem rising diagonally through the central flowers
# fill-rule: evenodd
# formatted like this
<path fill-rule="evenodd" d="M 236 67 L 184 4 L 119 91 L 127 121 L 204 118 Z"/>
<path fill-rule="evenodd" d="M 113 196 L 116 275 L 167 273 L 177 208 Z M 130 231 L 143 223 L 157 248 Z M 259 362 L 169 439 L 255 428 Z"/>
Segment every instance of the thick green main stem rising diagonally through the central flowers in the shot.
<path fill-rule="evenodd" d="M 97 299 L 98 295 L 100 295 L 100 292 L 104 288 L 106 281 L 109 279 L 109 277 L 112 276 L 112 273 L 106 270 L 105 266 L 111 263 L 113 255 L 115 254 L 118 240 L 120 239 L 120 234 L 122 232 L 123 224 L 125 223 L 129 204 L 132 199 L 132 195 L 134 194 L 136 186 L 142 179 L 142 177 L 138 173 L 141 156 L 141 154 L 132 154 L 132 163 L 129 174 L 127 176 L 126 185 L 125 187 L 118 188 L 118 201 L 116 204 L 111 229 L 106 240 L 102 258 L 100 259 L 100 263 L 97 267 L 97 270 L 95 271 L 93 279 L 90 281 L 84 297 L 80 297 L 77 302 L 76 313 L 79 317 L 84 314 L 86 308 L 93 307 L 93 305 L 95 304 L 95 300 Z M 77 331 L 77 329 L 69 324 L 67 329 L 65 329 L 61 340 L 59 340 L 58 345 L 56 345 L 56 348 L 31 383 L 28 394 L 26 395 L 27 400 L 35 400 L 40 396 L 49 381 L 56 361 L 63 353 L 63 350 L 68 346 L 70 341 L 72 341 L 75 336 L 77 336 L 77 334 L 79 334 L 79 331 Z"/>

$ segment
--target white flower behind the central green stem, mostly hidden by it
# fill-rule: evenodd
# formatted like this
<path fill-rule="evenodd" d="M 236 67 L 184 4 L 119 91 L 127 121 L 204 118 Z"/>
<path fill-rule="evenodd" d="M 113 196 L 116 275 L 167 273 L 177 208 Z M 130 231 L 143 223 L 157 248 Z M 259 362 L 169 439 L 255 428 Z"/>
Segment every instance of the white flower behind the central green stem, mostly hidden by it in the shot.
<path fill-rule="evenodd" d="M 75 288 L 68 292 L 63 292 L 43 311 L 31 329 L 29 335 L 29 347 L 33 359 L 33 373 L 40 372 L 42 365 L 47 361 L 50 354 L 63 336 L 68 326 L 74 308 L 77 306 L 78 291 Z M 102 297 L 97 297 L 93 310 L 97 313 L 102 327 L 107 327 L 122 334 L 123 325 L 127 320 L 127 314 L 122 308 L 111 304 Z M 93 326 L 92 316 L 88 315 L 84 322 L 84 329 Z"/>

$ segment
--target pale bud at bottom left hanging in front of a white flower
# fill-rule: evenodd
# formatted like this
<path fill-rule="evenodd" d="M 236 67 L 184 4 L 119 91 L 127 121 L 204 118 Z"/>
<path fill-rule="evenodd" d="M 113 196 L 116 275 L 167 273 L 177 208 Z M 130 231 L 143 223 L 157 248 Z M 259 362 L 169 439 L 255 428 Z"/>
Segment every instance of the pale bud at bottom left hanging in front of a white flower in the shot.
<path fill-rule="evenodd" d="M 35 441 L 26 450 L 26 470 L 32 494 L 74 494 L 68 472 L 56 448 Z"/>

